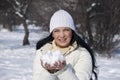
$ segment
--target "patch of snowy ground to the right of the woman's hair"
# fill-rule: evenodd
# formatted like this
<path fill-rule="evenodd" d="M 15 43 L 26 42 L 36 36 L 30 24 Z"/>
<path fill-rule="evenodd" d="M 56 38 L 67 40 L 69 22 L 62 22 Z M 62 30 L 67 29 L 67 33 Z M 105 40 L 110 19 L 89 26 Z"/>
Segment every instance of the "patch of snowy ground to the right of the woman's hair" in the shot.
<path fill-rule="evenodd" d="M 120 80 L 120 58 L 97 57 L 99 80 Z"/>

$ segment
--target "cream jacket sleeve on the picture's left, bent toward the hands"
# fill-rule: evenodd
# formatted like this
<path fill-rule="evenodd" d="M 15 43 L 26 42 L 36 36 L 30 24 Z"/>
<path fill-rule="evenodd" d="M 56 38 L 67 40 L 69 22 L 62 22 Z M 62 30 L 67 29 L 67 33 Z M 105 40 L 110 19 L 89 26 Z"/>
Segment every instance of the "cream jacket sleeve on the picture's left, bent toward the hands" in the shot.
<path fill-rule="evenodd" d="M 40 63 L 42 53 L 37 50 L 33 63 L 33 80 L 55 80 L 56 76 L 45 70 Z"/>

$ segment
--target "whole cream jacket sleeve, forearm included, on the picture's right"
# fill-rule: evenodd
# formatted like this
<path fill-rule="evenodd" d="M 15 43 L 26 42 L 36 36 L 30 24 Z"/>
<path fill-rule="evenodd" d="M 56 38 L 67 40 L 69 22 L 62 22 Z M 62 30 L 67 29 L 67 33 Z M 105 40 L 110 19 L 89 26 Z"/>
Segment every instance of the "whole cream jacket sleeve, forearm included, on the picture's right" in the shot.
<path fill-rule="evenodd" d="M 60 80 L 90 80 L 92 73 L 91 56 L 86 50 L 77 51 L 77 54 L 80 55 L 74 57 L 78 57 L 75 65 L 73 67 L 68 65 L 66 70 L 59 73 L 58 78 Z"/>

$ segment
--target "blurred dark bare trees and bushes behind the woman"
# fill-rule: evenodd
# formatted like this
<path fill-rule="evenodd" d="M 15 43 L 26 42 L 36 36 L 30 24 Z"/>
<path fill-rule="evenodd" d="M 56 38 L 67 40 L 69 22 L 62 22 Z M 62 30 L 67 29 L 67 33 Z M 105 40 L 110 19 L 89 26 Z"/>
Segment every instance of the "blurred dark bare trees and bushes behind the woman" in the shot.
<path fill-rule="evenodd" d="M 82 39 L 99 54 L 110 56 L 120 43 L 120 0 L 0 0 L 0 29 L 23 25 L 23 45 L 29 45 L 28 25 L 48 31 L 51 15 L 67 10 Z"/>

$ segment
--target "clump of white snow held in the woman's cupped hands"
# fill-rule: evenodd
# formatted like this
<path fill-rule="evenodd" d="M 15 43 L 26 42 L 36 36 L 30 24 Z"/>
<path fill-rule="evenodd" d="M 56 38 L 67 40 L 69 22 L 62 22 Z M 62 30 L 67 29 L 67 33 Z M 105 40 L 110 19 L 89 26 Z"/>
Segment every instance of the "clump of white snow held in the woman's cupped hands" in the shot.
<path fill-rule="evenodd" d="M 41 57 L 41 60 L 43 62 L 43 66 L 45 66 L 46 63 L 50 64 L 51 66 L 53 66 L 55 64 L 55 62 L 58 62 L 58 61 L 65 61 L 65 58 L 64 56 L 60 53 L 59 50 L 55 51 L 55 52 L 51 52 L 51 51 L 48 51 L 46 54 L 44 54 L 42 57 Z"/>

